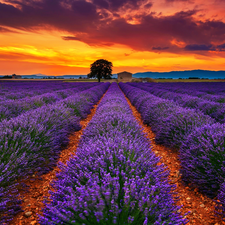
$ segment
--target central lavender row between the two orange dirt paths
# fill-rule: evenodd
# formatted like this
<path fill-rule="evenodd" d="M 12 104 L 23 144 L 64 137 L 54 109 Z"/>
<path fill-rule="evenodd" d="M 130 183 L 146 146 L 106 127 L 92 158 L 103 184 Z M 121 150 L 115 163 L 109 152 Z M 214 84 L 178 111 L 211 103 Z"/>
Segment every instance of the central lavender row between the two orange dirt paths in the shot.
<path fill-rule="evenodd" d="M 76 156 L 61 164 L 40 223 L 185 224 L 174 206 L 168 172 L 117 84 L 108 89 L 81 137 Z"/>

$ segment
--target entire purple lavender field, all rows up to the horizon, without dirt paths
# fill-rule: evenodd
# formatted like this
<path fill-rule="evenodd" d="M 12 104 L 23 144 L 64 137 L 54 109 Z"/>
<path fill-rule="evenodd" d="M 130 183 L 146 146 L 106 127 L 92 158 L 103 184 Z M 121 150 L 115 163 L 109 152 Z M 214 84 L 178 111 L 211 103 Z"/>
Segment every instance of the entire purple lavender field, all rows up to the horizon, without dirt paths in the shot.
<path fill-rule="evenodd" d="M 178 152 L 182 182 L 219 200 L 225 218 L 224 83 L 18 81 L 0 83 L 0 224 L 22 211 L 23 181 L 55 167 L 38 224 L 188 224 L 126 98 L 155 142 Z M 97 103 L 75 155 L 58 164 Z"/>

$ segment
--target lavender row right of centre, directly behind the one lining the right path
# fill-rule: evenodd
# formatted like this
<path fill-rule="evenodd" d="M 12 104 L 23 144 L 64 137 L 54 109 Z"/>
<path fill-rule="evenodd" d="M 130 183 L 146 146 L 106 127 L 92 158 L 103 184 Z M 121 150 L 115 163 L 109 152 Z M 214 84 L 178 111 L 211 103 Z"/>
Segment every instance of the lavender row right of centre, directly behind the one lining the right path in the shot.
<path fill-rule="evenodd" d="M 179 94 L 175 92 L 171 92 L 165 89 L 157 88 L 157 87 L 149 87 L 139 84 L 130 85 L 145 90 L 155 96 L 158 96 L 163 99 L 169 99 L 176 102 L 181 107 L 187 107 L 195 110 L 200 110 L 205 115 L 209 115 L 214 118 L 217 122 L 225 123 L 225 104 L 213 102 L 209 100 L 204 100 L 199 97 L 190 96 L 188 94 Z M 225 97 L 224 97 L 225 99 Z"/>

